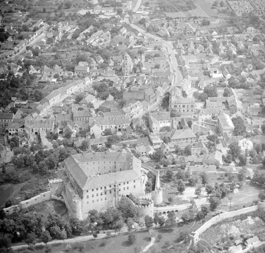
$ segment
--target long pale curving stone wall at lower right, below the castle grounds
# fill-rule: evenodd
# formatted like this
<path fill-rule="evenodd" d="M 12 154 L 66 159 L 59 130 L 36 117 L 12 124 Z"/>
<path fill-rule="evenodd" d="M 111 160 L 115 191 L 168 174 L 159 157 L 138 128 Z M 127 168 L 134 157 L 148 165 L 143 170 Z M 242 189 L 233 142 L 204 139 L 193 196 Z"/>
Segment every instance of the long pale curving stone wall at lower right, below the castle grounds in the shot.
<path fill-rule="evenodd" d="M 265 204 L 264 204 L 265 206 Z M 207 222 L 205 222 L 200 228 L 198 228 L 195 232 L 192 232 L 193 233 L 193 236 L 192 236 L 192 240 L 193 240 L 193 243 L 197 243 L 198 240 L 199 240 L 199 236 L 209 227 L 211 227 L 212 225 L 224 220 L 224 219 L 227 219 L 227 218 L 231 218 L 231 217 L 234 217 L 234 216 L 237 216 L 237 215 L 240 215 L 240 214 L 245 214 L 245 213 L 250 213 L 250 212 L 253 212 L 253 211 L 256 211 L 256 210 L 260 210 L 260 208 L 262 208 L 262 205 L 259 207 L 258 205 L 256 206 L 250 206 L 250 207 L 246 207 L 246 208 L 243 208 L 243 209 L 239 209 L 239 210 L 236 210 L 236 211 L 232 211 L 232 212 L 227 212 L 227 213 L 223 213 L 223 214 L 219 214 L 217 216 L 214 216 L 213 218 L 211 218 L 210 220 L 208 220 Z"/>

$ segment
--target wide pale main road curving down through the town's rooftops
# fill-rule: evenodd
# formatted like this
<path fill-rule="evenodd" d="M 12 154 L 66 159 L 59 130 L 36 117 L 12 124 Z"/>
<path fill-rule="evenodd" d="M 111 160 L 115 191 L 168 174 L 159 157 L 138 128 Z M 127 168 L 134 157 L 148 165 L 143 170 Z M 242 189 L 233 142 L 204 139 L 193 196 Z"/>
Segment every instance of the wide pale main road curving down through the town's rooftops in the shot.
<path fill-rule="evenodd" d="M 183 79 L 183 77 L 182 77 L 182 74 L 179 70 L 179 64 L 178 64 L 178 61 L 177 61 L 176 56 L 175 56 L 176 51 L 175 51 L 172 43 L 164 40 L 161 37 L 158 37 L 156 35 L 148 33 L 147 31 L 145 31 L 144 29 L 140 28 L 139 26 L 137 26 L 135 24 L 131 24 L 131 23 L 129 23 L 129 24 L 132 28 L 138 30 L 140 33 L 142 33 L 146 36 L 149 36 L 149 37 L 153 38 L 154 40 L 162 41 L 163 47 L 167 50 L 169 57 L 170 57 L 171 64 L 173 66 L 174 76 L 175 76 L 174 85 L 176 85 L 179 81 L 181 81 Z"/>

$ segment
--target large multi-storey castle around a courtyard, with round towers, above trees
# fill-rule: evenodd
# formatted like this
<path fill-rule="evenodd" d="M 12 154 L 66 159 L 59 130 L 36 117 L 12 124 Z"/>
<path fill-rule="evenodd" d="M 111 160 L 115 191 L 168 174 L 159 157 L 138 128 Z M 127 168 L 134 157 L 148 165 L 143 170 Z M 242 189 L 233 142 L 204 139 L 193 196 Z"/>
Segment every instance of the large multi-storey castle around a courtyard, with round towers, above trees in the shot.
<path fill-rule="evenodd" d="M 125 149 L 71 155 L 64 162 L 68 179 L 63 184 L 62 195 L 76 218 L 85 219 L 92 209 L 103 211 L 115 207 L 119 199 L 130 193 L 139 201 L 148 200 L 149 204 L 145 205 L 162 202 L 159 171 L 145 166 L 145 170 L 156 175 L 155 190 L 147 197 L 144 191 L 147 176 L 141 170 L 142 162 Z"/>

